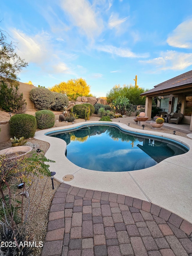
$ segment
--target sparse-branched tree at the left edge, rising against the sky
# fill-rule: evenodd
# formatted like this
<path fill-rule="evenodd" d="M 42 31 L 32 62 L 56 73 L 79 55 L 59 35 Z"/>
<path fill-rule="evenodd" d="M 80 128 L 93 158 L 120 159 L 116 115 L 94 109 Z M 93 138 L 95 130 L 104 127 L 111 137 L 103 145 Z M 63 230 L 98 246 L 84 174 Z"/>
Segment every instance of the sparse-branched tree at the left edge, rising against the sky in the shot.
<path fill-rule="evenodd" d="M 28 66 L 24 59 L 21 59 L 15 52 L 16 46 L 14 43 L 8 42 L 9 35 L 0 30 L 0 77 L 1 81 L 11 86 L 18 86 L 15 81 L 19 80 L 18 74 Z"/>

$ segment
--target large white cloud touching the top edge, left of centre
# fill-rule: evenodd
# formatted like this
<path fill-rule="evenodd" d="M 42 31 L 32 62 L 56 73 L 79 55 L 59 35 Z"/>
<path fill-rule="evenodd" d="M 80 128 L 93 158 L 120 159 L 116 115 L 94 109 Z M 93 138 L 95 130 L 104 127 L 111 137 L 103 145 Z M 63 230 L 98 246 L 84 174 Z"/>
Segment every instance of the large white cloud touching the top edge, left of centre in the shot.
<path fill-rule="evenodd" d="M 73 0 L 73 3 L 71 0 L 62 0 L 61 7 L 68 13 L 73 25 L 79 27 L 87 37 L 94 38 L 102 32 L 103 22 L 88 0 Z"/>

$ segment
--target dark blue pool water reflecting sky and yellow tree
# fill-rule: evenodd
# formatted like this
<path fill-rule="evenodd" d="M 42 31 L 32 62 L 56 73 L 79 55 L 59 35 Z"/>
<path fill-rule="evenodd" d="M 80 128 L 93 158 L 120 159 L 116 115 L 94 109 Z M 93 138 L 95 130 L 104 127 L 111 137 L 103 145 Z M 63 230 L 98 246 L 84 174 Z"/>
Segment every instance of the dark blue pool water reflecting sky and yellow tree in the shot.
<path fill-rule="evenodd" d="M 79 127 L 51 136 L 66 141 L 65 155 L 72 163 L 97 171 L 145 169 L 165 158 L 188 151 L 173 141 L 140 135 L 136 137 L 117 127 L 106 125 Z"/>

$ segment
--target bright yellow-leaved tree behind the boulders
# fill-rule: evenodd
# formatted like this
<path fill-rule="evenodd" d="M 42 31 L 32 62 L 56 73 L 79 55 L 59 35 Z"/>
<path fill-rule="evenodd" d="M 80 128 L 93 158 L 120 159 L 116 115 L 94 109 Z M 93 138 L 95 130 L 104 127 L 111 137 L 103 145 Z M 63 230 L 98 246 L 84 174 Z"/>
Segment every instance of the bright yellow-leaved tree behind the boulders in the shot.
<path fill-rule="evenodd" d="M 87 96 L 90 93 L 91 86 L 86 80 L 80 78 L 70 79 L 67 82 L 61 82 L 55 86 L 48 88 L 52 92 L 64 93 L 69 100 L 76 100 L 78 96 Z"/>

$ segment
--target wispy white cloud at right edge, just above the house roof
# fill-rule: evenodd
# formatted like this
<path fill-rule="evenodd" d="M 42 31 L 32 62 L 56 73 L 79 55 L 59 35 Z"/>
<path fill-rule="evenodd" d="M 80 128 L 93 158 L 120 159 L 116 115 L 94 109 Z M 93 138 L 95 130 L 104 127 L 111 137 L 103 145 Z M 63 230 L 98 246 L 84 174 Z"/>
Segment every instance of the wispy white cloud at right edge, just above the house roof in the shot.
<path fill-rule="evenodd" d="M 160 70 L 183 70 L 192 65 L 192 53 L 178 53 L 176 51 L 161 52 L 158 58 L 140 61 L 155 65 Z"/>

